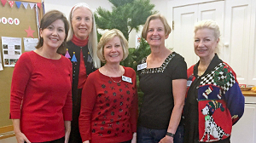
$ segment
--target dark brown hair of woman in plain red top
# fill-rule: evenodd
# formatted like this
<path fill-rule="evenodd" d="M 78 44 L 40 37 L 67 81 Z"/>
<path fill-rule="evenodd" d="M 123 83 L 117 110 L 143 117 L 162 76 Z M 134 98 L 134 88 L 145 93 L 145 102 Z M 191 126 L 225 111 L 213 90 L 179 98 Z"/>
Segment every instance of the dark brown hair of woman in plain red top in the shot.
<path fill-rule="evenodd" d="M 46 14 L 44 14 L 44 16 L 41 20 L 40 30 L 43 31 L 50 24 L 55 22 L 55 20 L 62 20 L 64 22 L 66 37 L 65 37 L 63 43 L 61 44 L 61 46 L 57 49 L 57 53 L 58 54 L 65 54 L 66 50 L 67 50 L 67 48 L 66 48 L 67 43 L 66 42 L 67 42 L 67 35 L 68 35 L 69 25 L 68 25 L 67 18 L 66 18 L 66 16 L 64 16 L 64 14 L 62 14 L 58 10 L 51 10 L 51 11 L 47 12 Z M 36 49 L 41 48 L 43 46 L 43 43 L 44 43 L 43 37 L 39 37 L 39 41 L 38 41 L 38 45 L 36 46 Z"/>

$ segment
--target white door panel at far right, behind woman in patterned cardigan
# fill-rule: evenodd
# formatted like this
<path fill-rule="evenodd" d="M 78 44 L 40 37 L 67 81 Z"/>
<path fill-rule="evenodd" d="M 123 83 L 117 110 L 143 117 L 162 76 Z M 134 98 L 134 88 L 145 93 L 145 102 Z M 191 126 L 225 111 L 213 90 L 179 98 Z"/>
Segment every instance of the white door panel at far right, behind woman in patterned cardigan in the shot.
<path fill-rule="evenodd" d="M 247 83 L 252 0 L 226 0 L 225 2 L 223 60 L 236 72 L 239 83 Z"/>

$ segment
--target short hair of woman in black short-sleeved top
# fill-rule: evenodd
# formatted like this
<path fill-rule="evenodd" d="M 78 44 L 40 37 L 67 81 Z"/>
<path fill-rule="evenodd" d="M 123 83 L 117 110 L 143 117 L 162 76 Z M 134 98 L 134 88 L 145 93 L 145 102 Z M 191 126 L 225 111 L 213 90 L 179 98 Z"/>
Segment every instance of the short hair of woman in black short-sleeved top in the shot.
<path fill-rule="evenodd" d="M 153 14 L 153 15 L 148 16 L 148 19 L 146 20 L 146 22 L 143 26 L 142 37 L 144 39 L 147 40 L 148 26 L 149 26 L 150 20 L 157 20 L 157 19 L 161 20 L 162 23 L 164 24 L 165 31 L 166 31 L 166 36 L 169 35 L 172 32 L 172 28 L 171 28 L 171 26 L 169 26 L 169 24 L 168 24 L 164 15 L 162 15 L 162 14 Z"/>

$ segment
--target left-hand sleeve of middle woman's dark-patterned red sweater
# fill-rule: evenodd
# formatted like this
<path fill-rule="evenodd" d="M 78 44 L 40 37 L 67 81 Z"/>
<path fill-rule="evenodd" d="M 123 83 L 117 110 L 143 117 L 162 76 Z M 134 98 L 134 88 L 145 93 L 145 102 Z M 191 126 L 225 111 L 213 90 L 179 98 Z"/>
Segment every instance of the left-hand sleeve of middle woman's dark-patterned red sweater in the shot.
<path fill-rule="evenodd" d="M 95 72 L 93 72 L 95 73 Z M 93 107 L 96 103 L 96 77 L 91 73 L 84 84 L 81 95 L 81 110 L 79 116 L 79 131 L 82 141 L 91 140 L 90 123 Z"/>

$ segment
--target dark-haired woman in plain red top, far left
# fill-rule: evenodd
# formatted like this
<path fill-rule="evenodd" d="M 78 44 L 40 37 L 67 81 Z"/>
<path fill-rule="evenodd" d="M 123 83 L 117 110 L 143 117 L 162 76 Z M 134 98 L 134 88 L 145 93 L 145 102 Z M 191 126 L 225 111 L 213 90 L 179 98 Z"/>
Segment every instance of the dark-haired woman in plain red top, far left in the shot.
<path fill-rule="evenodd" d="M 67 143 L 72 120 L 72 65 L 66 51 L 67 18 L 44 14 L 35 50 L 20 56 L 11 84 L 10 118 L 18 143 Z"/>

